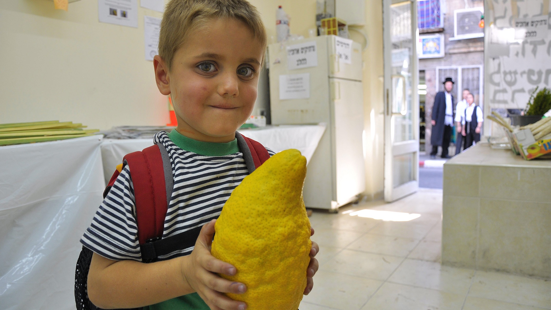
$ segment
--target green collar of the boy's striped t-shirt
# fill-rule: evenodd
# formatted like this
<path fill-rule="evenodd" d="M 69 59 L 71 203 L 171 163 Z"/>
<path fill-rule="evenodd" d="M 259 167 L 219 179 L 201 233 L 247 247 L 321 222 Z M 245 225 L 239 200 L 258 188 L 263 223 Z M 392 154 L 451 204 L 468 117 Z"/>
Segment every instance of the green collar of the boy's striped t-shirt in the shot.
<path fill-rule="evenodd" d="M 168 135 L 177 147 L 202 156 L 227 156 L 239 152 L 237 138 L 228 143 L 203 142 L 188 138 L 176 129 L 172 129 Z"/>

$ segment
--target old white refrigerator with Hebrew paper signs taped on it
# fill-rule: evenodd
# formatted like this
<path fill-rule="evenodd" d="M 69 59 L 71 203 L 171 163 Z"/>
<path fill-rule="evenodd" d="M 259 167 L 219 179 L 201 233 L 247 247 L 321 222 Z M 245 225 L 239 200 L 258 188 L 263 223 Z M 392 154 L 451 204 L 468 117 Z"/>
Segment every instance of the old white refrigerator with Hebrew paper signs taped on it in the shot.
<path fill-rule="evenodd" d="M 365 190 L 361 46 L 334 35 L 268 46 L 273 125 L 327 130 L 307 165 L 306 207 L 337 211 Z"/>

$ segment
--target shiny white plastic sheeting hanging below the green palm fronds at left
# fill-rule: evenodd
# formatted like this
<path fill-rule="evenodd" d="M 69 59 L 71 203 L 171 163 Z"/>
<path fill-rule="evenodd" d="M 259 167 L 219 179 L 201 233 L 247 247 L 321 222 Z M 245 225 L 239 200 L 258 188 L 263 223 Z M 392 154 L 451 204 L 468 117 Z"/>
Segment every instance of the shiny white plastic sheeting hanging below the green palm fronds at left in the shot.
<path fill-rule="evenodd" d="M 0 309 L 75 309 L 79 239 L 104 190 L 100 143 L 0 147 Z"/>

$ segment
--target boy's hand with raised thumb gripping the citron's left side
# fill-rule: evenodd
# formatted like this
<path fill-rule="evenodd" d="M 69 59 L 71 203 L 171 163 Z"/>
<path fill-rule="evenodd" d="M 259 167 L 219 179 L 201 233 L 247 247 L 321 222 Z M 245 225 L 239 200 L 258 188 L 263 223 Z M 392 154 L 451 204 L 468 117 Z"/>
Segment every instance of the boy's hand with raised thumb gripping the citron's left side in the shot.
<path fill-rule="evenodd" d="M 228 292 L 242 294 L 247 288 L 242 283 L 232 282 L 217 275 L 217 273 L 235 275 L 237 270 L 233 265 L 210 255 L 215 222 L 216 220 L 212 220 L 201 229 L 190 259 L 184 260 L 187 263 L 181 266 L 182 277 L 203 298 L 210 309 L 245 310 L 246 303 L 234 301 L 223 294 Z"/>

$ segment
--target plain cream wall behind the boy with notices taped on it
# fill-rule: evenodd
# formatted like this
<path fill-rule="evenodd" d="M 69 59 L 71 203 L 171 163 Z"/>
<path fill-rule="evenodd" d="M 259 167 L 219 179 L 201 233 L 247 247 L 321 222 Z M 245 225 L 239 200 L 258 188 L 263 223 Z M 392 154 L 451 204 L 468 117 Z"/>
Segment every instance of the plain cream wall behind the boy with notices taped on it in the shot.
<path fill-rule="evenodd" d="M 276 1 L 252 1 L 275 33 Z M 89 128 L 164 125 L 166 97 L 144 56 L 144 15 L 138 28 L 98 22 L 98 2 L 68 12 L 48 0 L 0 0 L 0 123 L 82 122 Z"/>

